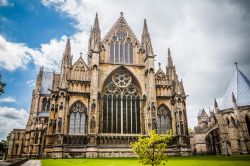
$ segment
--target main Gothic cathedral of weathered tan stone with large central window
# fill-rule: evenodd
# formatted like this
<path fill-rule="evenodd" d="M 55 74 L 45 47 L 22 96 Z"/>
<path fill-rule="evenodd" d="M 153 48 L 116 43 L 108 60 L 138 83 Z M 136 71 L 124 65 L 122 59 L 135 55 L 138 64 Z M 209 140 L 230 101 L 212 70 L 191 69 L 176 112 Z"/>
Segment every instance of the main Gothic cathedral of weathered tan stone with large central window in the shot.
<path fill-rule="evenodd" d="M 26 129 L 12 131 L 9 157 L 131 157 L 130 143 L 150 130 L 172 129 L 172 155 L 189 155 L 186 95 L 168 50 L 166 71 L 155 72 L 146 20 L 141 41 L 121 13 L 101 38 L 96 15 L 88 62 L 73 64 L 70 40 L 60 73 L 37 76 Z"/>

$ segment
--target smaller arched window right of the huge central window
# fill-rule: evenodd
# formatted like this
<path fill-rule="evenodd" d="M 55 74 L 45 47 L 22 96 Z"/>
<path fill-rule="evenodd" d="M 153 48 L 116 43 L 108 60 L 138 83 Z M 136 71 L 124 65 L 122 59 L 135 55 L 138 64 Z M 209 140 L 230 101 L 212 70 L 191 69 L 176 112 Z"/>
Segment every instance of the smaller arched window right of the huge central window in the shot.
<path fill-rule="evenodd" d="M 166 105 L 160 105 L 157 111 L 157 133 L 163 134 L 172 129 L 171 113 Z"/>

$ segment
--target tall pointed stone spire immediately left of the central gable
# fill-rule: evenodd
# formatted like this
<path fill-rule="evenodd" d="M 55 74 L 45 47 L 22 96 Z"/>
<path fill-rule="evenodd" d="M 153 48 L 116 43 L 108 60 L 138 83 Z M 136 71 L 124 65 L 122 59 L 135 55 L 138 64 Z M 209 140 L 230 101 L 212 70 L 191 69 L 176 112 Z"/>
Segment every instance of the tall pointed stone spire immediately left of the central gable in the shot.
<path fill-rule="evenodd" d="M 99 27 L 98 14 L 96 13 L 94 25 L 93 28 L 91 28 L 91 33 L 89 38 L 90 50 L 99 51 L 100 41 L 101 41 L 101 30 Z"/>

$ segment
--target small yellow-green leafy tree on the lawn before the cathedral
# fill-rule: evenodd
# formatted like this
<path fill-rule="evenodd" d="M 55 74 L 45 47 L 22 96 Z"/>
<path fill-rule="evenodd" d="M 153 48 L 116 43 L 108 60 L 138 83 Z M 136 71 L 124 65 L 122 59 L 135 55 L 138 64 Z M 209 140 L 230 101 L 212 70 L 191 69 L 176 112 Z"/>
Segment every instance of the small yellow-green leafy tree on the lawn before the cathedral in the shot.
<path fill-rule="evenodd" d="M 132 143 L 132 149 L 138 155 L 141 164 L 159 165 L 167 159 L 166 148 L 172 138 L 172 130 L 162 135 L 152 130 L 149 137 L 139 135 L 138 141 Z"/>

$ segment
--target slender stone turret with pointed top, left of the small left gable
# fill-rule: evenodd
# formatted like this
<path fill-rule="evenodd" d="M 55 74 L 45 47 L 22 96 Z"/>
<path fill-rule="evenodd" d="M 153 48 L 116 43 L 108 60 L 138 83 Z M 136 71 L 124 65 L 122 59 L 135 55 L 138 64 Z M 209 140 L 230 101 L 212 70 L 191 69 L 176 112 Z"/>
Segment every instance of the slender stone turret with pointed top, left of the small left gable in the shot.
<path fill-rule="evenodd" d="M 60 77 L 60 87 L 67 87 L 67 73 L 70 73 L 70 68 L 72 67 L 72 55 L 70 39 L 67 40 L 66 47 L 63 53 L 62 64 L 61 64 L 61 77 Z"/>

